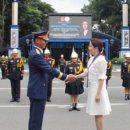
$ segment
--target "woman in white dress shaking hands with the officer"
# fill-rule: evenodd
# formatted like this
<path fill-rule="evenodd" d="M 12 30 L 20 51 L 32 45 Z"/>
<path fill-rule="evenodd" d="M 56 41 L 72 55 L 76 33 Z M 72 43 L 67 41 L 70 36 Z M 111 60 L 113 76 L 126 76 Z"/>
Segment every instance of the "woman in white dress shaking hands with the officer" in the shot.
<path fill-rule="evenodd" d="M 97 130 L 103 130 L 103 116 L 109 115 L 111 105 L 106 89 L 107 62 L 101 54 L 103 44 L 100 39 L 93 38 L 89 43 L 89 53 L 93 55 L 85 71 L 76 78 L 87 76 L 88 98 L 86 112 L 95 116 Z"/>

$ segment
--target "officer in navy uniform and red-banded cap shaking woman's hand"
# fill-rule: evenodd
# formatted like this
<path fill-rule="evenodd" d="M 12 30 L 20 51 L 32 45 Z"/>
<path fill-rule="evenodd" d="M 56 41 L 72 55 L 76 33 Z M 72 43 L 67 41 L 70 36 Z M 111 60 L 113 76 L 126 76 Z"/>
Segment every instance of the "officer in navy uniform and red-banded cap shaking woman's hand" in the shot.
<path fill-rule="evenodd" d="M 47 99 L 48 75 L 61 80 L 75 80 L 74 75 L 66 75 L 48 65 L 43 57 L 47 45 L 47 32 L 34 34 L 34 47 L 29 54 L 29 82 L 27 95 L 30 99 L 29 130 L 42 130 L 42 120 Z"/>

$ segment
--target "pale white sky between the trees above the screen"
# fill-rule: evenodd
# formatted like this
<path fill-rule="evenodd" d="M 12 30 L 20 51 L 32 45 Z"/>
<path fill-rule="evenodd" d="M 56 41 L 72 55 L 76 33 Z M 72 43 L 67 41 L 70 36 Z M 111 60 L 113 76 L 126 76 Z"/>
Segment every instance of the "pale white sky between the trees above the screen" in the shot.
<path fill-rule="evenodd" d="M 46 2 L 58 13 L 81 13 L 84 4 L 88 4 L 88 0 L 41 0 Z"/>

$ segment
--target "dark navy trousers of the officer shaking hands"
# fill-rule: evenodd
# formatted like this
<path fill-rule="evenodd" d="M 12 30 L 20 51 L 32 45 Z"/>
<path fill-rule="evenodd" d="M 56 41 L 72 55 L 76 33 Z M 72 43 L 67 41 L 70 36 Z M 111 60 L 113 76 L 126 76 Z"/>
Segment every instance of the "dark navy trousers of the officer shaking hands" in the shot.
<path fill-rule="evenodd" d="M 30 118 L 28 130 L 42 130 L 45 104 L 45 99 L 30 98 Z"/>

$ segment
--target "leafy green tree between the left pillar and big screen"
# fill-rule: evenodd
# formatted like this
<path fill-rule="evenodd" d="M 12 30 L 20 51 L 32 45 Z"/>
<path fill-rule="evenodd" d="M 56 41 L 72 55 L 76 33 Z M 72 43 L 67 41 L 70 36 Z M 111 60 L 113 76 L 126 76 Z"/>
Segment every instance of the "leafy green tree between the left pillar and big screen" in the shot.
<path fill-rule="evenodd" d="M 20 36 L 30 32 L 48 30 L 48 13 L 52 12 L 54 9 L 49 4 L 39 0 L 24 1 L 19 4 Z"/>

